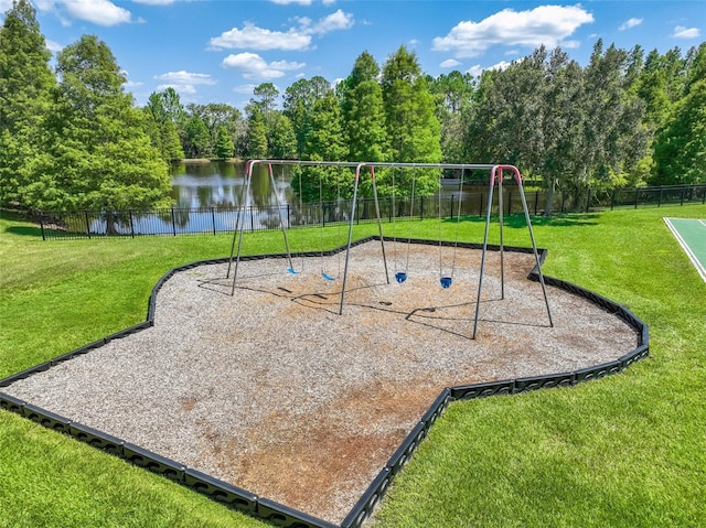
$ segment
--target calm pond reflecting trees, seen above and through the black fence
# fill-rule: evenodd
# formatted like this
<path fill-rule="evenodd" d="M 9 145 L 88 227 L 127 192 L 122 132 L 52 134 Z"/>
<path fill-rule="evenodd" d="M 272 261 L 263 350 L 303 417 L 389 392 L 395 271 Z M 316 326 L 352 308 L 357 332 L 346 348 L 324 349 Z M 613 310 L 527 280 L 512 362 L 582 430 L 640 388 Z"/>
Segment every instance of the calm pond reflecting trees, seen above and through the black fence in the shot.
<path fill-rule="evenodd" d="M 278 229 L 302 225 L 327 225 L 351 220 L 350 201 L 339 203 L 299 204 L 291 188 L 292 166 L 275 165 L 274 184 L 267 165 L 258 164 L 253 172 L 248 196 L 243 197 L 245 163 L 206 162 L 182 163 L 171 168 L 174 205 L 168 209 L 122 212 L 113 218 L 110 226 L 103 217 L 77 217 L 77 230 L 105 234 L 107 230 L 124 235 L 176 235 L 180 233 L 233 231 L 238 223 L 247 230 Z M 506 187 L 504 208 L 509 212 L 520 205 L 516 190 Z M 408 198 L 408 197 L 407 197 Z M 381 219 L 393 222 L 397 217 L 453 218 L 461 215 L 482 215 L 488 200 L 488 186 L 464 185 L 459 192 L 459 181 L 445 180 L 436 196 L 415 196 L 414 204 L 403 197 L 396 204 L 389 197 L 379 198 Z M 244 204 L 240 202 L 245 202 Z M 496 201 L 495 201 L 496 202 Z M 279 203 L 280 207 L 276 207 Z M 247 205 L 247 207 L 243 207 Z M 535 196 L 534 208 L 538 201 Z M 370 198 L 360 198 L 355 207 L 355 222 L 373 220 L 375 205 Z M 88 226 L 88 227 L 86 227 Z"/>

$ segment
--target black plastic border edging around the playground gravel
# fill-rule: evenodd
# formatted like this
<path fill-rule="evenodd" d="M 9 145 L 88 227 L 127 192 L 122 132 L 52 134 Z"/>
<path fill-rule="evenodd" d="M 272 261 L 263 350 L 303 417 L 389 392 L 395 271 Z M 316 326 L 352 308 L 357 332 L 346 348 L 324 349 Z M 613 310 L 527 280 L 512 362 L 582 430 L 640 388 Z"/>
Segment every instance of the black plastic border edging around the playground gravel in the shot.
<path fill-rule="evenodd" d="M 352 244 L 359 246 L 371 240 L 379 240 L 379 236 L 371 236 L 362 238 Z M 392 241 L 395 238 L 384 237 L 384 240 Z M 411 239 L 411 244 L 429 244 L 429 240 Z M 434 241 L 435 245 L 439 244 Z M 441 245 L 452 246 L 454 243 L 441 243 Z M 481 249 L 480 244 L 458 243 L 458 247 L 469 249 Z M 332 256 L 346 249 L 346 246 L 341 246 L 335 249 L 323 251 L 325 256 Z M 489 250 L 498 251 L 499 246 L 488 246 Z M 514 252 L 532 252 L 532 248 L 518 248 L 518 247 L 505 247 L 507 251 Z M 544 262 L 547 251 L 541 249 L 539 262 Z M 291 257 L 318 257 L 321 252 L 299 252 L 292 254 Z M 261 260 L 267 258 L 286 258 L 285 254 L 272 255 L 257 255 L 240 257 L 240 260 Z M 157 303 L 157 293 L 162 288 L 164 282 L 171 278 L 174 273 L 197 266 L 224 263 L 229 260 L 228 257 L 218 259 L 201 260 L 190 262 L 183 266 L 179 266 L 170 269 L 162 278 L 157 282 L 149 299 L 147 320 L 142 323 L 130 326 L 115 334 L 110 334 L 101 340 L 95 341 L 87 345 L 84 345 L 67 354 L 57 356 L 49 362 L 36 365 L 32 368 L 28 368 L 18 374 L 11 375 L 7 378 L 0 379 L 0 388 L 9 387 L 14 381 L 24 379 L 32 376 L 35 373 L 45 371 L 62 362 L 73 359 L 74 357 L 87 354 L 88 352 L 99 348 L 110 341 L 122 338 L 127 335 L 140 332 L 154 324 L 154 311 Z M 531 280 L 538 281 L 538 271 L 535 268 L 530 272 L 528 278 Z M 415 453 L 420 442 L 427 437 L 429 429 L 434 425 L 436 420 L 441 416 L 451 401 L 466 400 L 474 398 L 485 398 L 489 396 L 499 395 L 517 395 L 527 392 L 531 390 L 537 390 L 542 388 L 552 387 L 570 387 L 578 382 L 588 381 L 591 379 L 599 379 L 605 376 L 618 374 L 628 368 L 634 362 L 645 358 L 650 352 L 650 337 L 648 325 L 638 319 L 630 310 L 622 306 L 602 295 L 599 295 L 590 290 L 586 290 L 570 282 L 566 282 L 560 279 L 552 277 L 544 277 L 548 285 L 554 285 L 561 290 L 568 291 L 576 295 L 582 297 L 589 302 L 602 308 L 609 313 L 614 314 L 630 325 L 638 334 L 638 347 L 624 356 L 601 365 L 593 365 L 590 367 L 581 368 L 570 373 L 549 374 L 546 376 L 525 377 L 516 379 L 504 379 L 499 381 L 490 381 L 472 385 L 460 385 L 456 387 L 445 388 L 436 398 L 434 403 L 424 413 L 420 421 L 413 428 L 409 434 L 402 442 L 399 448 L 387 461 L 385 467 L 381 470 L 377 476 L 373 479 L 365 493 L 361 496 L 359 502 L 353 506 L 351 511 L 344 518 L 341 524 L 341 528 L 360 528 L 361 525 L 373 513 L 375 506 L 379 503 L 381 498 L 387 491 L 387 487 L 392 483 L 393 478 L 404 468 L 411 455 Z M 258 497 L 250 492 L 242 489 L 237 486 L 233 486 L 228 483 L 218 481 L 205 473 L 201 473 L 196 470 L 185 467 L 179 462 L 165 459 L 157 453 L 148 451 L 131 443 L 126 443 L 124 440 L 111 437 L 105 432 L 89 428 L 78 422 L 72 422 L 71 420 L 55 414 L 51 411 L 41 409 L 36 406 L 28 403 L 23 400 L 14 398 L 8 394 L 0 391 L 0 409 L 15 412 L 29 420 L 32 420 L 49 429 L 64 432 L 74 437 L 75 439 L 88 443 L 89 445 L 106 451 L 108 453 L 120 456 L 140 467 L 145 467 L 153 473 L 160 474 L 170 478 L 176 483 L 192 487 L 199 493 L 202 493 L 214 500 L 221 502 L 229 507 L 243 510 L 249 515 L 260 517 L 267 521 L 270 521 L 277 526 L 288 528 L 336 528 L 325 520 L 318 519 L 302 511 L 292 509 L 274 500 Z"/>

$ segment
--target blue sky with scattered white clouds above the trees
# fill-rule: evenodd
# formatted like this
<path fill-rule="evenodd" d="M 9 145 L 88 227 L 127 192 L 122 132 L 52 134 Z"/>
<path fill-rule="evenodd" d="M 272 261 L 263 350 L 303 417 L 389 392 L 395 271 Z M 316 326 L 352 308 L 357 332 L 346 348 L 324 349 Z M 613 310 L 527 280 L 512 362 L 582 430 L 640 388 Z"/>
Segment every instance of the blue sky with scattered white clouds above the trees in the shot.
<path fill-rule="evenodd" d="M 244 108 L 260 83 L 347 76 L 402 44 L 437 76 L 503 67 L 539 44 L 586 64 L 595 42 L 664 53 L 706 40 L 706 1 L 33 0 L 49 47 L 105 41 L 138 105 L 168 86 L 182 103 Z M 12 0 L 0 0 L 4 13 Z"/>

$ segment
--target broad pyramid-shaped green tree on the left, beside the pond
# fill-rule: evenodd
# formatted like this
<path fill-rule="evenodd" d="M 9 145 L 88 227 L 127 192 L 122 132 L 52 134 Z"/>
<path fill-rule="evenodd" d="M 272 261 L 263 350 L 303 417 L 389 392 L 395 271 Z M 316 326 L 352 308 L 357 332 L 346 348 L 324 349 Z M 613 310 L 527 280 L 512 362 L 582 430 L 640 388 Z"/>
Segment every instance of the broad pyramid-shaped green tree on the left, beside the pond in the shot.
<path fill-rule="evenodd" d="M 145 114 L 124 93 L 109 47 L 82 36 L 57 57 L 60 83 L 32 163 L 29 205 L 42 209 L 113 211 L 171 203 L 171 181 L 145 132 Z"/>

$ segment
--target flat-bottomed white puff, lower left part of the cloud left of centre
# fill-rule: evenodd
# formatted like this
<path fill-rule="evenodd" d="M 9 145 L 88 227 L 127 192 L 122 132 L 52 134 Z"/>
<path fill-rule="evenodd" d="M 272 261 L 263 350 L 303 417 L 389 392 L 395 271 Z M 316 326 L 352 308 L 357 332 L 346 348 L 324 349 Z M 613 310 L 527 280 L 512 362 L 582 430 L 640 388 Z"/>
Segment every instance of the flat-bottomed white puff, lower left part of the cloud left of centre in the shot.
<path fill-rule="evenodd" d="M 250 49 L 250 50 L 282 50 L 301 51 L 311 44 L 311 36 L 289 30 L 287 33 L 270 31 L 246 23 L 242 30 L 233 28 L 214 36 L 208 42 L 215 50 Z"/>

